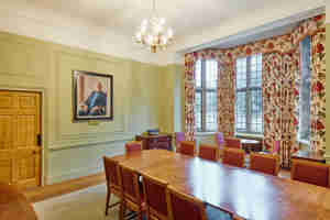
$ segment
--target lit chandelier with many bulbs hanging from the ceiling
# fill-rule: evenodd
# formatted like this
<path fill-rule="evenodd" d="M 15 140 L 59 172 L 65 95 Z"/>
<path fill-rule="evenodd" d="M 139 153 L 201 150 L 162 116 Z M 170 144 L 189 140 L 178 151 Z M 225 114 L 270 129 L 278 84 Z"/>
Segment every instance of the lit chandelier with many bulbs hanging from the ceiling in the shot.
<path fill-rule="evenodd" d="M 142 21 L 133 38 L 138 44 L 147 47 L 152 53 L 156 53 L 157 50 L 165 50 L 173 43 L 173 30 L 165 24 L 166 20 L 158 16 L 155 0 L 153 0 L 153 13 L 151 18 Z"/>

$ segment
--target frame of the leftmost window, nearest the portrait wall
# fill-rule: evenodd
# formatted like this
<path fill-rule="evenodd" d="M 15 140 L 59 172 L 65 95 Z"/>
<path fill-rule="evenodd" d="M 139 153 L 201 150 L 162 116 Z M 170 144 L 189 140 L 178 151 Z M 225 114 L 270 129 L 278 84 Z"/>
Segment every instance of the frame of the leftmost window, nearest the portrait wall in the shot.
<path fill-rule="evenodd" d="M 217 63 L 217 69 L 219 70 L 219 66 L 218 66 L 218 61 L 216 59 L 197 59 L 197 62 L 200 61 L 200 80 L 201 80 L 201 86 L 197 87 L 197 84 L 195 84 L 195 96 L 197 92 L 201 94 L 201 111 L 200 111 L 200 122 L 201 122 L 201 128 L 197 128 L 196 127 L 196 131 L 197 132 L 217 132 L 218 128 L 216 128 L 215 130 L 210 130 L 207 128 L 207 94 L 208 92 L 215 92 L 216 94 L 216 99 L 218 102 L 218 86 L 215 88 L 208 88 L 207 87 L 207 61 L 215 61 Z M 197 63 L 196 62 L 196 63 Z M 196 65 L 196 64 L 195 64 Z M 196 67 L 196 66 L 195 66 Z M 195 69 L 196 73 L 196 69 Z M 218 80 L 218 78 L 217 78 Z M 195 100 L 196 101 L 196 100 Z M 218 108 L 218 103 L 216 105 Z M 217 113 L 218 113 L 218 109 L 217 109 Z M 196 117 L 196 112 L 195 112 L 195 117 Z M 217 125 L 218 125 L 218 117 L 216 117 L 217 119 Z M 195 118 L 196 121 L 196 118 Z"/>

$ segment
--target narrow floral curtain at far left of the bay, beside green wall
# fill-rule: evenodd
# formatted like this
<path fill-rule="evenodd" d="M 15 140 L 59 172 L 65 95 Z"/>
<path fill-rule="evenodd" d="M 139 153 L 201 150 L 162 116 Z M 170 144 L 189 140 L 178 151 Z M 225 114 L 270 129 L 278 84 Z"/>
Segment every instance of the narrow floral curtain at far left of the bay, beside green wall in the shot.
<path fill-rule="evenodd" d="M 195 62 L 194 54 L 185 56 L 185 133 L 187 141 L 195 136 Z"/>

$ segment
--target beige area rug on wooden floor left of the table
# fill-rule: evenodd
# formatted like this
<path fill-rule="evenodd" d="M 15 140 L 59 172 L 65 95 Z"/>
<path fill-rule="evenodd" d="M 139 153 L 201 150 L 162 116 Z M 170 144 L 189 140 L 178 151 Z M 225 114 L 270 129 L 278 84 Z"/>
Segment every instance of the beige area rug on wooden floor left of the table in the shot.
<path fill-rule="evenodd" d="M 98 185 L 34 204 L 40 220 L 118 220 L 119 207 L 105 216 L 107 188 Z M 113 199 L 113 198 L 112 198 Z M 118 201 L 113 199 L 112 202 Z"/>

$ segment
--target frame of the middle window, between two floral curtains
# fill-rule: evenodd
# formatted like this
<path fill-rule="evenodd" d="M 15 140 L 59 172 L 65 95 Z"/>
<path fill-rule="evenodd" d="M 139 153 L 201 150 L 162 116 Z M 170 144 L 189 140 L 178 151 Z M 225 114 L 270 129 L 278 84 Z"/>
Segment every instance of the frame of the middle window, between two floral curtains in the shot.
<path fill-rule="evenodd" d="M 254 54 L 254 55 L 250 55 L 250 56 L 245 56 L 245 57 L 239 57 L 238 59 L 240 58 L 245 58 L 246 59 L 246 86 L 243 87 L 243 88 L 238 88 L 238 59 L 235 59 L 235 112 L 234 112 L 234 118 L 235 118 L 235 122 L 234 122 L 234 132 L 235 134 L 238 135 L 243 135 L 243 134 L 251 134 L 251 135 L 263 135 L 264 134 L 264 117 L 262 117 L 262 129 L 261 129 L 261 132 L 255 132 L 255 131 L 252 131 L 252 91 L 258 91 L 261 92 L 261 113 L 263 116 L 263 112 L 264 112 L 264 109 L 263 109 L 263 97 L 262 97 L 262 74 L 263 74 L 263 69 L 261 68 L 261 85 L 260 86 L 251 86 L 251 80 L 252 80 L 252 56 L 255 56 L 255 55 L 261 55 L 261 59 L 262 59 L 262 54 Z M 257 61 L 256 61 L 256 73 L 257 73 Z M 246 129 L 245 131 L 238 131 L 237 129 L 237 98 L 238 98 L 238 94 L 239 92 L 244 92 L 245 94 L 245 105 L 246 105 L 246 114 L 245 114 L 245 125 L 246 125 Z"/>

